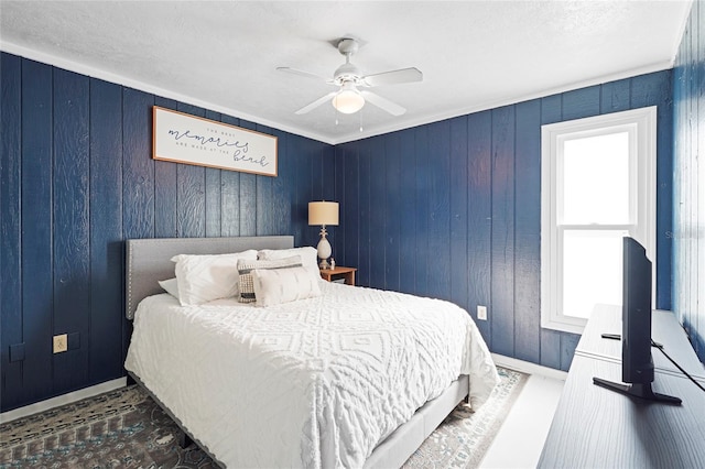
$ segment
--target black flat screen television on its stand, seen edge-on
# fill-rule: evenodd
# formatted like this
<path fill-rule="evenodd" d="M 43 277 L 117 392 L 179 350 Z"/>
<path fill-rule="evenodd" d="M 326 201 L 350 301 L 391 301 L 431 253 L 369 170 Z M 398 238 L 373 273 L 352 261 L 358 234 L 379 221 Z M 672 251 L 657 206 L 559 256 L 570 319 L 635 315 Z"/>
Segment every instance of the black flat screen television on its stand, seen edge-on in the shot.
<path fill-rule="evenodd" d="M 651 261 L 633 238 L 622 241 L 621 380 L 593 378 L 599 386 L 646 401 L 681 404 L 681 400 L 654 393 L 651 357 Z M 627 383 L 627 384 L 625 384 Z"/>

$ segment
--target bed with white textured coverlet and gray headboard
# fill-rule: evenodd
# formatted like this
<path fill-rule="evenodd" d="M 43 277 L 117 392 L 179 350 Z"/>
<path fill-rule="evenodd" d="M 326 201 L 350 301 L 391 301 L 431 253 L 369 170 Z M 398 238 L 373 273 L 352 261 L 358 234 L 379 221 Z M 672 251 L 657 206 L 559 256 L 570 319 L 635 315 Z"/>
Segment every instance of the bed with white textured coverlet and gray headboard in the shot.
<path fill-rule="evenodd" d="M 400 467 L 460 401 L 477 407 L 497 383 L 477 327 L 448 302 L 316 275 L 308 296 L 262 306 L 282 293 L 263 290 L 275 281 L 259 268 L 257 303 L 238 301 L 243 276 L 236 297 L 197 305 L 159 283 L 185 277 L 177 255 L 251 251 L 297 252 L 288 236 L 127 241 L 126 370 L 218 465 Z M 307 255 L 261 262 L 300 262 L 276 271 L 290 285 L 311 271 Z"/>

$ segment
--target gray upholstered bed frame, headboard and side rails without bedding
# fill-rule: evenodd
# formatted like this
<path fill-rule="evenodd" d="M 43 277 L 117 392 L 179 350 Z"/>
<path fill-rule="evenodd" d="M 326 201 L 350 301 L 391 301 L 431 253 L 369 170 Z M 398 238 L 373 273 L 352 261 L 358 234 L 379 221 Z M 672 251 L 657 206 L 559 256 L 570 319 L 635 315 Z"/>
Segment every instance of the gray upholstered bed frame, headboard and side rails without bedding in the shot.
<path fill-rule="evenodd" d="M 174 276 L 176 254 L 220 254 L 240 252 L 247 249 L 288 249 L 293 248 L 291 236 L 240 237 L 240 238 L 163 238 L 132 239 L 126 241 L 126 316 L 134 318 L 138 304 L 147 296 L 163 293 L 158 281 Z M 155 402 L 174 419 L 184 436 L 182 445 L 191 439 L 198 444 L 215 461 L 218 459 L 198 441 L 197 435 L 191 435 L 181 425 L 177 415 L 164 406 L 159 396 L 147 389 L 140 377 L 130 375 L 144 388 Z M 401 467 L 421 446 L 443 419 L 468 396 L 468 377 L 462 375 L 438 397 L 426 402 L 413 417 L 401 425 L 387 439 L 380 443 L 365 463 L 365 468 Z"/>

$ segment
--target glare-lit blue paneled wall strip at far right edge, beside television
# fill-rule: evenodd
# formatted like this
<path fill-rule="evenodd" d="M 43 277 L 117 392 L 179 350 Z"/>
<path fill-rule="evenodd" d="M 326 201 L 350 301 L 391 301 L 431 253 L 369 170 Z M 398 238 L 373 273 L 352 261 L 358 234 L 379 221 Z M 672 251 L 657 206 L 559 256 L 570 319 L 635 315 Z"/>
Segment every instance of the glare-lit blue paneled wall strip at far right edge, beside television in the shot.
<path fill-rule="evenodd" d="M 705 363 L 705 4 L 693 2 L 674 70 L 673 309 Z"/>

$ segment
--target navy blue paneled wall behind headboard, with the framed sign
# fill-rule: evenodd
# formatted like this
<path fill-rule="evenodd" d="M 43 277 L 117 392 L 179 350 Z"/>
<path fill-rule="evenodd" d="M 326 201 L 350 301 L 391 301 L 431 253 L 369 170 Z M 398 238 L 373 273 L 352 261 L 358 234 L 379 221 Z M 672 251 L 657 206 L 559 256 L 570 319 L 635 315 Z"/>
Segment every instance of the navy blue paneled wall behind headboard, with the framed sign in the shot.
<path fill-rule="evenodd" d="M 7 53 L 0 70 L 2 411 L 123 375 L 124 239 L 317 242 L 333 146 Z M 154 105 L 276 135 L 279 176 L 153 161 Z"/>

